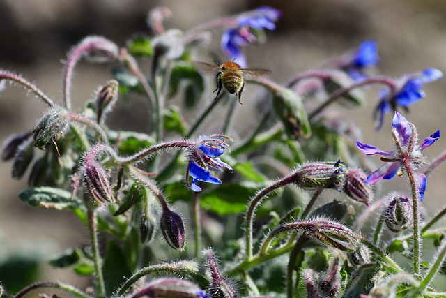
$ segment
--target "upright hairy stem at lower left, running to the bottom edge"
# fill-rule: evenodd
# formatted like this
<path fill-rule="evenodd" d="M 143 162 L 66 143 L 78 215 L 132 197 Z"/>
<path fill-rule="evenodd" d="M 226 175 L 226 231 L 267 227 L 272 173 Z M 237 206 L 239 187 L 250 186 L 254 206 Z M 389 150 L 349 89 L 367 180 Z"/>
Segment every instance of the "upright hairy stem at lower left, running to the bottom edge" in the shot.
<path fill-rule="evenodd" d="M 96 218 L 95 209 L 89 208 L 87 211 L 89 232 L 91 239 L 91 250 L 93 251 L 93 263 L 95 268 L 95 278 L 98 287 L 98 297 L 105 297 L 105 283 L 104 276 L 102 275 L 102 260 L 99 254 L 98 243 L 98 220 Z"/>

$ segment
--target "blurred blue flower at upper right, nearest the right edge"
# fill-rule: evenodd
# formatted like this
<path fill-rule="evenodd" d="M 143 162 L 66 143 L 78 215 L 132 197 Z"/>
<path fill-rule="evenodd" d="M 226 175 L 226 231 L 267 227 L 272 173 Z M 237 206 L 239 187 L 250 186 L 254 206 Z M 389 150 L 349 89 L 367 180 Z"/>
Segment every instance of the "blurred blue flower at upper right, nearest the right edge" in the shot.
<path fill-rule="evenodd" d="M 424 83 L 433 82 L 443 77 L 443 73 L 436 68 L 426 68 L 421 73 L 404 75 L 397 82 L 394 89 L 385 88 L 379 91 L 380 101 L 374 112 L 374 119 L 378 119 L 377 130 L 383 125 L 384 115 L 403 107 L 406 111 L 408 106 L 416 103 L 426 96 L 422 90 Z"/>

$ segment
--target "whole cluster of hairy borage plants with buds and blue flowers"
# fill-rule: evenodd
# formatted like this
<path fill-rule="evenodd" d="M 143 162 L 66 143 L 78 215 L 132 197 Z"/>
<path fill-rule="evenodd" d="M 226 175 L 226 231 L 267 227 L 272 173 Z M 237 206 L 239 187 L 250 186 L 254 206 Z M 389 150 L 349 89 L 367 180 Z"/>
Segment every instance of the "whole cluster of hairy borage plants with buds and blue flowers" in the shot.
<path fill-rule="evenodd" d="M 29 169 L 22 202 L 72 211 L 86 225 L 89 244 L 51 264 L 93 277 L 84 290 L 38 282 L 13 295 L 3 284 L 0 296 L 44 291 L 49 297 L 58 289 L 83 298 L 446 297 L 431 286 L 434 275 L 446 274 L 445 228 L 433 228 L 446 209 L 422 217 L 427 178 L 446 152 L 429 163 L 424 149 L 440 131 L 420 142 L 415 124 L 400 114 L 424 98 L 424 84 L 442 77 L 440 70 L 397 80 L 371 75 L 380 62 L 378 45 L 365 40 L 280 84 L 270 75 L 249 76 L 245 56 L 246 46 L 275 30 L 278 10 L 262 6 L 185 32 L 164 28 L 170 14 L 152 10 L 153 35 L 132 36 L 125 47 L 100 36 L 75 45 L 61 103 L 24 77 L 0 71 L 3 86 L 20 85 L 48 106 L 36 127 L 6 140 L 1 158 L 12 161 L 14 179 Z M 246 84 L 264 89 L 243 94 L 256 97 L 258 109 L 249 111 L 252 131 L 243 137 L 232 124 L 236 110 L 247 107 L 227 91 L 213 100 L 194 67 L 197 57 L 218 56 L 208 47 L 216 28 L 224 31 L 225 59 L 247 69 Z M 82 59 L 113 63 L 113 78 L 73 109 L 72 74 Z M 147 73 L 142 61 L 150 62 Z M 220 80 L 240 80 L 243 73 L 217 71 Z M 373 112 L 376 133 L 390 131 L 389 151 L 360 142 L 343 111 L 362 107 L 368 100 L 362 88 L 375 85 L 383 87 Z M 118 98 L 130 94 L 147 99 L 146 133 L 107 126 Z M 205 129 L 210 117 L 213 125 Z M 378 154 L 384 164 L 375 170 L 364 154 Z M 403 175 L 406 192 L 374 188 Z M 422 255 L 424 246 L 437 253 Z"/>

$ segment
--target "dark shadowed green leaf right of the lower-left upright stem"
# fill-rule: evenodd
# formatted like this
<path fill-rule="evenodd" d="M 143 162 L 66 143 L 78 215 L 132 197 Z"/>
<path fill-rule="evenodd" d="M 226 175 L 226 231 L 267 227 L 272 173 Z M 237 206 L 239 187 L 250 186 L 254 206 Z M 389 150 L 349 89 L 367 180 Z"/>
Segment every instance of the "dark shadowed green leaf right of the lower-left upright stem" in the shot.
<path fill-rule="evenodd" d="M 112 295 L 126 278 L 132 276 L 121 246 L 112 239 L 107 242 L 103 272 L 107 296 Z"/>

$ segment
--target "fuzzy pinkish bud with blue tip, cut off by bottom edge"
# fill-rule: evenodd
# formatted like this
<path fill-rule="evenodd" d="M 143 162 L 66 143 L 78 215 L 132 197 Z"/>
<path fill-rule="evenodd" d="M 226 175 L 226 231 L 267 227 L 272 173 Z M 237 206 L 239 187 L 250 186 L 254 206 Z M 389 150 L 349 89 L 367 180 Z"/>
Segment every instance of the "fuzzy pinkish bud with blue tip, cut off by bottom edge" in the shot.
<path fill-rule="evenodd" d="M 132 298 L 139 297 L 205 298 L 208 295 L 192 281 L 180 278 L 157 278 L 132 294 Z"/>

